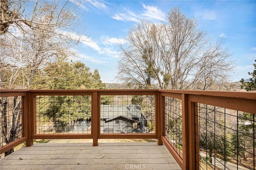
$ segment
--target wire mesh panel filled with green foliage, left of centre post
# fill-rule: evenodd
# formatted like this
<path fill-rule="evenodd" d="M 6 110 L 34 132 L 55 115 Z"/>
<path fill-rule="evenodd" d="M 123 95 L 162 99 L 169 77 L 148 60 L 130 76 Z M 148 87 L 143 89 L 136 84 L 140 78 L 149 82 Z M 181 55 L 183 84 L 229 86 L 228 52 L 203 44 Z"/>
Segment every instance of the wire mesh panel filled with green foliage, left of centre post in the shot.
<path fill-rule="evenodd" d="M 36 96 L 36 134 L 91 134 L 91 96 Z"/>

